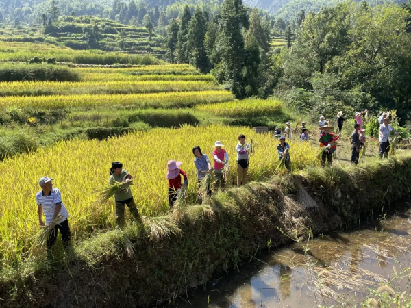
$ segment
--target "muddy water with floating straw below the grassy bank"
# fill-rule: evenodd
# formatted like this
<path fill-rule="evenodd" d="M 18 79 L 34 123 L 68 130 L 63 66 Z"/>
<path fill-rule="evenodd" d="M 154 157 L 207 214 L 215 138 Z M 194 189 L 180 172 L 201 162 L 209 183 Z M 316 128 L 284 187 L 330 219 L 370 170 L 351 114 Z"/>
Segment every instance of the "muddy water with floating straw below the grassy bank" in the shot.
<path fill-rule="evenodd" d="M 408 210 L 364 229 L 271 248 L 243 261 L 240 271 L 214 277 L 205 291 L 178 298 L 177 307 L 359 307 L 370 288 L 411 264 L 411 203 L 402 205 Z M 402 276 L 390 285 L 409 291 L 410 279 Z"/>

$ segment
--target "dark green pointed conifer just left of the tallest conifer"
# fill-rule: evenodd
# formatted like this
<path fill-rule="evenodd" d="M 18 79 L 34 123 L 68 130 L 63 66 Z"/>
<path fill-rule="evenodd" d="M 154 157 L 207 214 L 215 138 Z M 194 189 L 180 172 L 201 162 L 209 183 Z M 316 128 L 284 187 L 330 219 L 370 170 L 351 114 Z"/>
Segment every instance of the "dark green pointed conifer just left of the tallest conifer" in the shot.
<path fill-rule="evenodd" d="M 192 66 L 199 68 L 201 72 L 206 73 L 210 70 L 204 40 L 207 32 L 207 16 L 205 12 L 198 7 L 195 8 L 194 15 L 188 26 L 187 34 L 187 51 L 188 60 Z"/>

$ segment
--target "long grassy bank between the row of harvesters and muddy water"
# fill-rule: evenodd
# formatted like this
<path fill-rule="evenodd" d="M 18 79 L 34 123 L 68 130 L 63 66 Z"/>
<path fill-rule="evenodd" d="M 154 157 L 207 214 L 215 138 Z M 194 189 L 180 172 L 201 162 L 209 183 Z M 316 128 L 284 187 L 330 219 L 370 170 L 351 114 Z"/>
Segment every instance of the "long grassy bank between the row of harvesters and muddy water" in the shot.
<path fill-rule="evenodd" d="M 252 164 L 252 163 L 251 163 Z M 5 307 L 136 307 L 172 300 L 212 274 L 238 268 L 267 246 L 360 224 L 410 194 L 411 155 L 360 168 L 308 167 L 266 183 L 231 189 L 173 216 L 145 218 L 145 230 L 96 232 L 67 255 L 56 249 L 3 268 Z M 130 246 L 129 246 L 130 248 Z M 130 255 L 130 254 L 129 254 Z M 91 295 L 90 295 L 91 294 Z"/>

